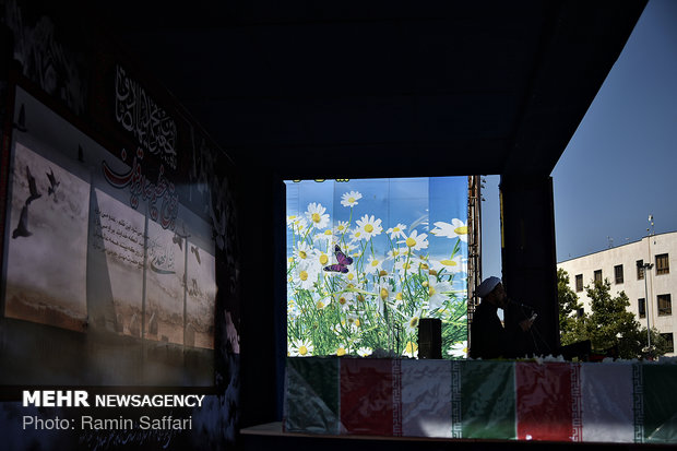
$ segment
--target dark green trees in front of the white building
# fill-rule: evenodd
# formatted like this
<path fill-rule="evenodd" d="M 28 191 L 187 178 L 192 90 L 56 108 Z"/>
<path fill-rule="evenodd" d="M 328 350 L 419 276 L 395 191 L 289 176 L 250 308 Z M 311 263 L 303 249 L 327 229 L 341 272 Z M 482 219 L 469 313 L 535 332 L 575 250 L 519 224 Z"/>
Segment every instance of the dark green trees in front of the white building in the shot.
<path fill-rule="evenodd" d="M 558 270 L 557 280 L 562 345 L 590 340 L 594 351 L 620 358 L 655 357 L 668 352 L 667 342 L 654 328 L 651 330 L 652 348 L 648 348 L 646 328 L 628 311 L 630 301 L 625 292 L 611 296 L 608 280 L 585 287 L 592 311 L 583 314 L 578 314 L 582 304 L 568 285 L 567 272 Z"/>

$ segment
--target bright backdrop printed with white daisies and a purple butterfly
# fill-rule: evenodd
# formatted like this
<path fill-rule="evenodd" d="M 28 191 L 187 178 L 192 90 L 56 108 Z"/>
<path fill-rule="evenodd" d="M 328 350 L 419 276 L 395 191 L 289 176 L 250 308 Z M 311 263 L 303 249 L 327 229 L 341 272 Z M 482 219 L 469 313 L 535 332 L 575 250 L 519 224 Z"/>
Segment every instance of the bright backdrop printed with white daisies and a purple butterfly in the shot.
<path fill-rule="evenodd" d="M 417 356 L 467 346 L 467 177 L 287 181 L 287 349 Z"/>

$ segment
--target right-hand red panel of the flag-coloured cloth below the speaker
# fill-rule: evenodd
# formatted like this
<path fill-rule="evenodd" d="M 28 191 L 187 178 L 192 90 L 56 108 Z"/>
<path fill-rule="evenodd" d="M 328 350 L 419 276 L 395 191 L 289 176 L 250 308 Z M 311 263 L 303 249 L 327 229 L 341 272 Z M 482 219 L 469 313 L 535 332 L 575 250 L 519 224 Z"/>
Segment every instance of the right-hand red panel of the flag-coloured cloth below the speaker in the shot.
<path fill-rule="evenodd" d="M 516 364 L 519 440 L 572 440 L 570 365 Z"/>

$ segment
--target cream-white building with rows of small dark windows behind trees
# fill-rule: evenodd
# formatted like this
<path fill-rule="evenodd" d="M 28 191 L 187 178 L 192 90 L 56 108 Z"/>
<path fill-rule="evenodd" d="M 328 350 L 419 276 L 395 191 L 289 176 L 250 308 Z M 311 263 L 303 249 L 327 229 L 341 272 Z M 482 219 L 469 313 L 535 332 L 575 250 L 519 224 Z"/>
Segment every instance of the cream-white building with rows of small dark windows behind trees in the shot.
<path fill-rule="evenodd" d="M 673 296 L 677 297 L 677 232 L 650 235 L 639 241 L 566 260 L 557 268 L 569 273 L 569 286 L 587 313 L 592 310 L 585 287 L 607 278 L 611 296 L 625 292 L 630 300 L 628 310 L 643 327 L 657 329 L 672 345 L 673 352 L 667 355 L 675 355 L 677 311 L 673 312 L 672 304 Z"/>

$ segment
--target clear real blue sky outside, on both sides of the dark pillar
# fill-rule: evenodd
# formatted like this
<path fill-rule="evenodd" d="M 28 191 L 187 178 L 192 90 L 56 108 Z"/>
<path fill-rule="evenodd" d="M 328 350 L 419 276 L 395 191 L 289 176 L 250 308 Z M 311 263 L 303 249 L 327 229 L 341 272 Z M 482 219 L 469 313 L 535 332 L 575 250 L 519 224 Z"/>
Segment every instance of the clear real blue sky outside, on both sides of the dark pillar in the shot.
<path fill-rule="evenodd" d="M 650 0 L 553 170 L 557 261 L 677 230 L 677 1 Z M 499 176 L 483 192 L 483 275 L 501 275 Z"/>

